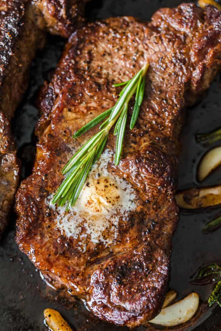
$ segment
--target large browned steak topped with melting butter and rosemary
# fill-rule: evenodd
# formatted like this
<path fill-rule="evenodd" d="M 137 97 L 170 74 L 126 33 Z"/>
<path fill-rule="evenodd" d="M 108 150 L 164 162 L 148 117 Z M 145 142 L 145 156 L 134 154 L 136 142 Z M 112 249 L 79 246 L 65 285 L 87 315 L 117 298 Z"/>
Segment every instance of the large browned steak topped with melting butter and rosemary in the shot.
<path fill-rule="evenodd" d="M 89 23 L 70 37 L 42 89 L 35 164 L 16 198 L 16 242 L 54 286 L 84 298 L 100 319 L 134 327 L 162 308 L 179 218 L 183 109 L 219 70 L 220 41 L 221 13 L 191 3 L 160 9 L 150 23 L 133 17 Z M 143 103 L 135 128 L 126 129 L 119 166 L 112 132 L 76 205 L 69 212 L 54 206 L 62 168 L 98 127 L 72 135 L 113 107 L 120 92 L 113 84 L 146 62 Z"/>

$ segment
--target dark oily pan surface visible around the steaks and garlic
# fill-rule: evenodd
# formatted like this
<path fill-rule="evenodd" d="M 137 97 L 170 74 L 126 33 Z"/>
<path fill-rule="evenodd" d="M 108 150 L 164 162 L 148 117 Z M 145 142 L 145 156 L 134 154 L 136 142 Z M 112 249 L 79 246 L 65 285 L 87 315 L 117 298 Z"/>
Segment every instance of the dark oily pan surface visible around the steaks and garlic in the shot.
<path fill-rule="evenodd" d="M 133 15 L 149 20 L 159 7 L 173 7 L 179 3 L 179 0 L 93 0 L 88 3 L 86 14 L 89 20 L 121 15 Z M 46 49 L 38 53 L 31 67 L 28 92 L 13 121 L 18 154 L 23 162 L 23 177 L 30 174 L 35 153 L 33 128 L 38 119 L 38 112 L 34 106 L 37 91 L 44 79 L 50 79 L 63 45 L 63 40 L 49 37 Z M 212 130 L 220 125 L 220 89 L 220 78 L 217 77 L 204 100 L 187 112 L 187 125 L 182 133 L 183 152 L 179 168 L 179 189 L 198 185 L 195 178 L 196 166 L 205 149 L 195 143 L 194 134 Z M 221 183 L 220 169 L 205 181 L 207 185 L 217 183 Z M 220 214 L 221 208 L 198 213 L 181 211 L 180 222 L 173 239 L 170 283 L 170 287 L 178 292 L 178 298 L 194 290 L 199 293 L 203 301 L 207 299 L 211 286 L 193 286 L 189 283 L 189 278 L 203 262 L 221 260 L 221 229 L 207 235 L 201 232 L 203 224 Z M 63 293 L 49 289 L 28 258 L 19 251 L 14 241 L 14 234 L 15 216 L 12 215 L 11 224 L 0 243 L 0 330 L 45 330 L 43 310 L 47 307 L 59 310 L 77 331 L 129 330 L 98 321 L 80 301 L 73 298 L 72 303 L 69 303 Z M 220 330 L 220 312 L 219 307 L 213 311 L 206 311 L 198 321 L 201 323 L 199 326 L 196 326 L 197 323 L 185 330 Z M 139 327 L 136 330 L 150 329 Z"/>

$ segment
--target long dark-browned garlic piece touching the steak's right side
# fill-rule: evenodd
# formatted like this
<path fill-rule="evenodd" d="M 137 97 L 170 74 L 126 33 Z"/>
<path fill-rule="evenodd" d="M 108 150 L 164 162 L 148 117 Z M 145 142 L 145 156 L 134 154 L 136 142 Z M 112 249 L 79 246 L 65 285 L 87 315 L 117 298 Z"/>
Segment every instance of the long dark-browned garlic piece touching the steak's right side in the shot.
<path fill-rule="evenodd" d="M 221 185 L 192 188 L 175 195 L 177 206 L 184 209 L 198 209 L 221 204 Z"/>

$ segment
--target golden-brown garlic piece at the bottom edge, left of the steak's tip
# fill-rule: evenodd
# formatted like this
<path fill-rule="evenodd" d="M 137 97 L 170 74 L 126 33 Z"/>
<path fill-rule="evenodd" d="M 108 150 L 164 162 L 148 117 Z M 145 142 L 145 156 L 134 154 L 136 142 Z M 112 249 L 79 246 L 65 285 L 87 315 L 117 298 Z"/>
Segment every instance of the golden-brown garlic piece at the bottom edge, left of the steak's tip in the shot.
<path fill-rule="evenodd" d="M 44 318 L 52 331 L 73 331 L 57 310 L 45 309 Z"/>

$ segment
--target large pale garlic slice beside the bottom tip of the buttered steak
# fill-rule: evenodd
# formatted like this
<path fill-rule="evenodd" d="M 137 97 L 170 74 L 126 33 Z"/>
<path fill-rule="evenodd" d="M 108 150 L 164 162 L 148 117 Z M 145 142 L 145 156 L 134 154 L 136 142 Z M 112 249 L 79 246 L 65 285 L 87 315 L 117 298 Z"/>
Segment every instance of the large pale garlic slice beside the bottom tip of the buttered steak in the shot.
<path fill-rule="evenodd" d="M 199 306 L 199 296 L 191 293 L 175 304 L 165 307 L 159 315 L 149 321 L 163 326 L 176 326 L 189 321 L 196 313 Z"/>

